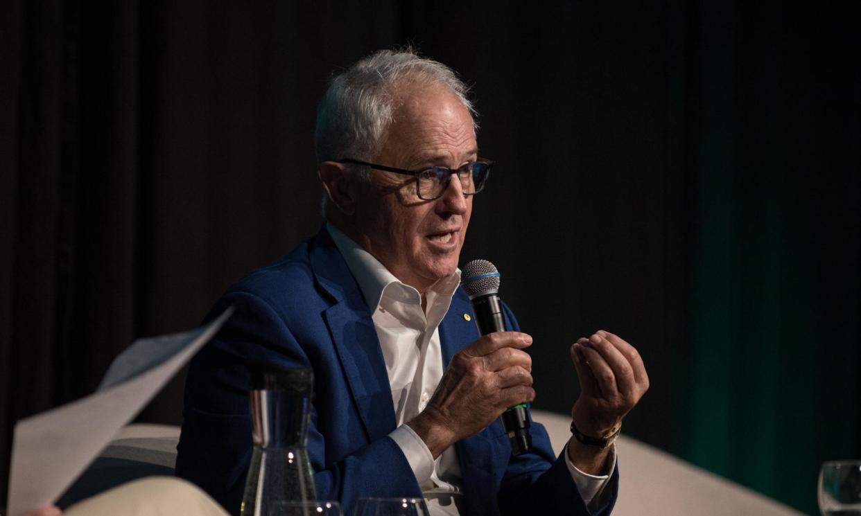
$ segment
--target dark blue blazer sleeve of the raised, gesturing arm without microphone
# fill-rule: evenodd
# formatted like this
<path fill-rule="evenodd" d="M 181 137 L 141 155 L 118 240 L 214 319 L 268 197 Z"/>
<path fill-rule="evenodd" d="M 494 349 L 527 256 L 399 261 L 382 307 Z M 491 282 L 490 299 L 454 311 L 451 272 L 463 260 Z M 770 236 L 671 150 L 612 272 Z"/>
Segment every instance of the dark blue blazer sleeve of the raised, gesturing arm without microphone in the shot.
<path fill-rule="evenodd" d="M 503 304 L 507 328 L 520 331 L 511 309 Z M 572 514 L 576 516 L 609 516 L 616 504 L 619 469 L 615 468 L 610 484 L 611 496 L 603 507 L 590 512 L 565 464 L 565 451 L 554 455 L 544 427 L 532 423 L 533 452 L 511 457 L 499 488 L 500 513 L 506 516 L 529 514 Z"/>

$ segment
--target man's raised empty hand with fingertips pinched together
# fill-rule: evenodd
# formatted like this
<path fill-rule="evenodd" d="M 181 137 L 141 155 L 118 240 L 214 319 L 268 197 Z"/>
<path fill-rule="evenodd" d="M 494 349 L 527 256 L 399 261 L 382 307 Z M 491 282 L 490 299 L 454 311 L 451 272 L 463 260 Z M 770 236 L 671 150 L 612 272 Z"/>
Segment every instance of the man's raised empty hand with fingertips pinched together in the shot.
<path fill-rule="evenodd" d="M 607 437 L 648 390 L 640 353 L 602 329 L 579 339 L 571 347 L 571 358 L 580 383 L 580 396 L 571 409 L 574 425 L 586 435 Z M 574 460 L 571 446 L 569 454 Z"/>

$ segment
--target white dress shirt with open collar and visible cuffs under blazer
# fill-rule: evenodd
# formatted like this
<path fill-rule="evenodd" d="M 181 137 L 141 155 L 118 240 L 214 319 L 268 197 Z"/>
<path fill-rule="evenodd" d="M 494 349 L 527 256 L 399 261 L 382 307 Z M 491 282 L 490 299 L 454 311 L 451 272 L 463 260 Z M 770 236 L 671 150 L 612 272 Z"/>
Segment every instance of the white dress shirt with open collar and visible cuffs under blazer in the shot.
<path fill-rule="evenodd" d="M 418 290 L 395 278 L 380 261 L 338 228 L 326 224 L 327 230 L 350 273 L 356 278 L 362 296 L 373 310 L 371 318 L 380 338 L 388 381 L 392 387 L 395 421 L 398 427 L 389 434 L 404 452 L 407 462 L 422 489 L 433 516 L 459 516 L 462 507 L 461 467 L 454 446 L 436 460 L 424 441 L 406 425 L 424 410 L 437 384 L 443 378 L 443 353 L 439 341 L 439 324 L 449 310 L 451 298 L 460 284 L 461 271 L 438 280 L 425 292 L 426 310 Z M 568 470 L 588 505 L 598 501 L 610 475 L 593 476 L 578 470 L 565 454 Z M 616 448 L 611 450 L 610 464 L 616 467 Z M 602 498 L 598 496 L 598 498 Z"/>

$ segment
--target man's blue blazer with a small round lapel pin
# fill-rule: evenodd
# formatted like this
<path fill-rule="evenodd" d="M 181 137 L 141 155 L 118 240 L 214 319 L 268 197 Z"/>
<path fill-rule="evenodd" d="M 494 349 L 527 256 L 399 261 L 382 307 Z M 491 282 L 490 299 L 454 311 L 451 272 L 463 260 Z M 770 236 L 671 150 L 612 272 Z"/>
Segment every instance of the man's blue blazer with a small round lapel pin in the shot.
<path fill-rule="evenodd" d="M 362 497 L 421 496 L 398 445 L 394 407 L 368 304 L 328 231 L 232 286 L 208 316 L 236 307 L 213 341 L 192 360 L 185 386 L 177 476 L 195 482 L 238 514 L 251 461 L 248 359 L 311 367 L 314 401 L 308 453 L 320 500 L 351 514 Z M 443 360 L 479 338 L 460 289 L 439 327 Z M 505 307 L 509 329 L 517 321 Z M 533 423 L 534 453 L 511 457 L 499 420 L 456 443 L 464 516 L 589 514 L 548 434 Z M 617 470 L 617 469 L 616 469 Z M 617 474 L 614 474 L 616 476 Z M 609 514 L 612 500 L 596 514 Z"/>

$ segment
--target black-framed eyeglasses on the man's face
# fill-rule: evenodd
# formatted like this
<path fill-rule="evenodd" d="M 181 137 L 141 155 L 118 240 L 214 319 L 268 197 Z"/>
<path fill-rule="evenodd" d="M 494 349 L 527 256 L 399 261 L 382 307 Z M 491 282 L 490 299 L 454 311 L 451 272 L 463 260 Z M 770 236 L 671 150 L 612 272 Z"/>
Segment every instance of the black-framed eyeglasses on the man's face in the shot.
<path fill-rule="evenodd" d="M 394 167 L 363 162 L 350 157 L 340 159 L 338 163 L 364 165 L 375 170 L 384 170 L 400 175 L 412 175 L 416 178 L 418 198 L 421 200 L 435 200 L 443 195 L 445 189 L 449 187 L 451 176 L 455 174 L 461 180 L 461 190 L 463 190 L 464 195 L 478 194 L 484 188 L 487 176 L 490 175 L 490 169 L 493 166 L 492 161 L 479 159 L 480 161 L 467 163 L 455 170 L 446 167 L 431 167 L 418 170 L 395 169 Z"/>

